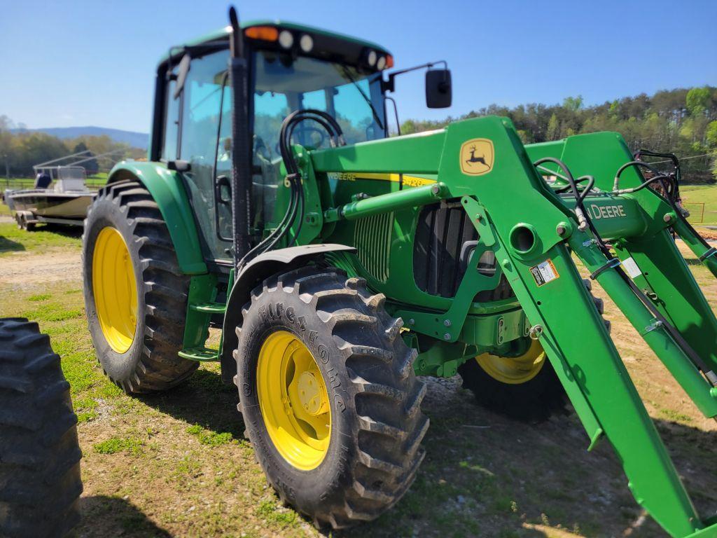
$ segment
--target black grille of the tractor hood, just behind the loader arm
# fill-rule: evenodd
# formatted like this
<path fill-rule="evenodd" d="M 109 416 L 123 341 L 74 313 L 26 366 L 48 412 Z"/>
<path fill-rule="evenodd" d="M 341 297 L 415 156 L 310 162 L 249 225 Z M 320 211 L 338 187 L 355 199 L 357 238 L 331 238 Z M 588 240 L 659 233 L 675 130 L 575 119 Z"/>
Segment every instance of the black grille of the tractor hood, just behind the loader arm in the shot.
<path fill-rule="evenodd" d="M 413 274 L 419 289 L 431 295 L 455 297 L 470 255 L 478 243 L 478 232 L 467 219 L 460 202 L 442 202 L 422 209 L 416 227 Z M 495 254 L 483 253 L 478 270 L 495 274 Z M 505 275 L 493 291 L 478 293 L 476 301 L 496 301 L 513 296 Z"/>

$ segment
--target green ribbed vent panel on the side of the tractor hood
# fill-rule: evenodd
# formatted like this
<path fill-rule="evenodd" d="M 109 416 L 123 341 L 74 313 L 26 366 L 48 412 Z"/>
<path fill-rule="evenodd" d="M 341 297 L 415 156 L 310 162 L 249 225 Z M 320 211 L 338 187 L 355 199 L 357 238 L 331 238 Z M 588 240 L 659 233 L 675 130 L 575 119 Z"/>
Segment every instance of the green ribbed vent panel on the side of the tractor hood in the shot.
<path fill-rule="evenodd" d="M 353 245 L 361 265 L 381 283 L 389 279 L 393 222 L 393 212 L 378 214 L 357 220 L 353 231 Z"/>

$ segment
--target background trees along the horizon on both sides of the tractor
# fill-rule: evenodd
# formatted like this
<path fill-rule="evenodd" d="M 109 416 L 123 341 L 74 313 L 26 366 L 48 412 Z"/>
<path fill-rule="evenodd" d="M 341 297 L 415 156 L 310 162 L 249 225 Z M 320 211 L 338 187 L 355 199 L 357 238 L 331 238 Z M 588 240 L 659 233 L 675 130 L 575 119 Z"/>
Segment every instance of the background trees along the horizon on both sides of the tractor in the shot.
<path fill-rule="evenodd" d="M 560 105 L 530 103 L 513 108 L 490 105 L 457 118 L 440 121 L 404 121 L 404 134 L 441 128 L 452 121 L 483 115 L 511 118 L 523 143 L 559 140 L 595 131 L 617 131 L 633 151 L 640 148 L 670 152 L 681 159 L 688 183 L 717 181 L 717 88 L 679 88 L 654 95 L 641 93 L 602 105 L 584 105 L 583 98 L 569 97 Z M 89 149 L 99 155 L 118 151 L 112 159 L 90 161 L 107 171 L 113 161 L 145 156 L 145 150 L 112 141 L 108 136 L 60 139 L 34 131 L 11 131 L 14 123 L 0 115 L 0 176 L 28 177 L 32 166 Z"/>

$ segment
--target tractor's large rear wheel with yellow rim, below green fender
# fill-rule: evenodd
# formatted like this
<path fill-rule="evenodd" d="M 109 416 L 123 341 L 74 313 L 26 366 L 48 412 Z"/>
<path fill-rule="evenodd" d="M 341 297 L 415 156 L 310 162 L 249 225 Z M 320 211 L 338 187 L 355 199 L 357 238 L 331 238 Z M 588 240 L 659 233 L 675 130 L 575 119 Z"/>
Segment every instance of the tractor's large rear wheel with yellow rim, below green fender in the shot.
<path fill-rule="evenodd" d="M 198 363 L 179 357 L 189 277 L 158 205 L 137 181 L 109 184 L 82 235 L 85 309 L 105 374 L 125 392 L 167 390 Z"/>

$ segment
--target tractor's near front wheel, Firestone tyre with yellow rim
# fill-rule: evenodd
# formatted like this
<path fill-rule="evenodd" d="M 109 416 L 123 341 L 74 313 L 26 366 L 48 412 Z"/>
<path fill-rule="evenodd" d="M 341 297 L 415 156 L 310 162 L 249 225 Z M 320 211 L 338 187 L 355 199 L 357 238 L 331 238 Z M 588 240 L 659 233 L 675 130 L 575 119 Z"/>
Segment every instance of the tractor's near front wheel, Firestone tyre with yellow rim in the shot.
<path fill-rule="evenodd" d="M 375 519 L 424 457 L 425 387 L 384 300 L 363 279 L 305 267 L 265 280 L 242 310 L 247 435 L 280 498 L 317 527 Z"/>

